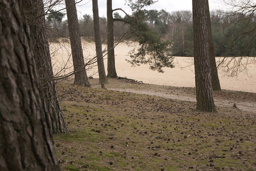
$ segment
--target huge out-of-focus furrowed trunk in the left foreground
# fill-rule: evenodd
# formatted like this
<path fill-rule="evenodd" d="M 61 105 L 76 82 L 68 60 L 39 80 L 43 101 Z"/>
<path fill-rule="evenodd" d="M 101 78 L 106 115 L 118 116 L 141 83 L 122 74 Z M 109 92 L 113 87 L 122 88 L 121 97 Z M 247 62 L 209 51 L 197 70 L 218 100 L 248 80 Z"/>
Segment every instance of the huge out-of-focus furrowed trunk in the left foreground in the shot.
<path fill-rule="evenodd" d="M 59 171 L 21 7 L 0 0 L 0 170 Z"/>

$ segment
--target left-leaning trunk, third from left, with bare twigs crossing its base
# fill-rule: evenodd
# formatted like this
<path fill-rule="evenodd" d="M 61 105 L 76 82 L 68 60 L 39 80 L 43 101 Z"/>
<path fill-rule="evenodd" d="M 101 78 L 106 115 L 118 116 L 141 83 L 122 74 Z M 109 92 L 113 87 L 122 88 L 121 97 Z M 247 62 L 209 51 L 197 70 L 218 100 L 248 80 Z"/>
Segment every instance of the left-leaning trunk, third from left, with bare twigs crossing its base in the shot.
<path fill-rule="evenodd" d="M 65 0 L 65 4 L 68 17 L 68 32 L 70 36 L 70 45 L 74 65 L 74 84 L 90 87 L 84 64 L 83 49 L 76 11 L 76 2 L 75 0 Z"/>

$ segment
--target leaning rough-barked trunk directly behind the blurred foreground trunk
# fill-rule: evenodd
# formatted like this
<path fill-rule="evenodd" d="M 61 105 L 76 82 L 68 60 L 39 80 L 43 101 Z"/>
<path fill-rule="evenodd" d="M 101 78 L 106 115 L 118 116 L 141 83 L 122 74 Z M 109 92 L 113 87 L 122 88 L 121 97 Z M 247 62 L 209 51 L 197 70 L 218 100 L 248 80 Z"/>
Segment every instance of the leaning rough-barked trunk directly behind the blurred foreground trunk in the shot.
<path fill-rule="evenodd" d="M 53 80 L 50 49 L 46 37 L 43 0 L 22 0 L 22 4 L 30 26 L 30 36 L 34 45 L 36 67 L 44 90 L 46 106 L 50 113 L 52 132 L 68 133 Z"/>

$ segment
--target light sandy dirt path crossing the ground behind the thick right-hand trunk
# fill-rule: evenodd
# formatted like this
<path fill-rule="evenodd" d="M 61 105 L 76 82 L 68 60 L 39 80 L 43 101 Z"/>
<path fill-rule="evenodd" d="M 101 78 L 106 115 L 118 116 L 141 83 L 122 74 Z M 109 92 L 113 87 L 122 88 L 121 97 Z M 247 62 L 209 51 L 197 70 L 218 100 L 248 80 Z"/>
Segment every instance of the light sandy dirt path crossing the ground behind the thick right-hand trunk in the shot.
<path fill-rule="evenodd" d="M 98 79 L 92 79 L 92 87 L 99 87 Z M 139 94 L 155 95 L 163 98 L 196 102 L 196 95 L 192 87 L 173 87 L 152 84 L 140 84 L 126 80 L 110 79 L 107 89 Z M 125 84 L 124 84 L 125 83 Z M 222 90 L 214 92 L 216 107 L 236 107 L 242 111 L 256 112 L 256 93 Z"/>

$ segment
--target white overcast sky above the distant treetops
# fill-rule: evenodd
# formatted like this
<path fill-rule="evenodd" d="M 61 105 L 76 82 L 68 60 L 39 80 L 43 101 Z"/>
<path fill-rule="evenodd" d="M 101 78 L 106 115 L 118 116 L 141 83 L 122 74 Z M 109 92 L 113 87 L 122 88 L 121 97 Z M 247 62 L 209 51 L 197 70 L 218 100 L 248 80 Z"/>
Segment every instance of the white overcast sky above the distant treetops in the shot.
<path fill-rule="evenodd" d="M 224 0 L 209 0 L 210 10 L 222 9 Z M 99 16 L 107 17 L 106 15 L 106 0 L 98 0 Z M 78 17 L 82 17 L 84 14 L 90 14 L 92 16 L 92 0 L 82 0 L 76 6 L 78 10 Z M 128 14 L 130 13 L 130 7 L 125 5 L 125 0 L 112 0 L 112 9 L 122 8 Z M 147 10 L 166 10 L 167 12 L 178 10 L 191 10 L 192 0 L 158 0 L 155 4 L 146 8 Z M 120 15 L 124 15 L 123 12 L 119 12 Z"/>

